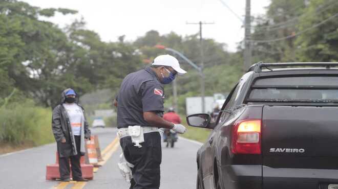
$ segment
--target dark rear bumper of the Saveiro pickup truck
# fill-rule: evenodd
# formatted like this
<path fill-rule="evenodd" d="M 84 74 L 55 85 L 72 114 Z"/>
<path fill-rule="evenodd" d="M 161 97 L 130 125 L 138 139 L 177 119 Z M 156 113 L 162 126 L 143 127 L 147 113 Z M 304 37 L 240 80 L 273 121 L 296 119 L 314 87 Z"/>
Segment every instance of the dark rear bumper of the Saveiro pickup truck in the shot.
<path fill-rule="evenodd" d="M 338 170 L 260 165 L 230 165 L 220 169 L 224 187 L 231 189 L 328 189 L 329 184 L 338 184 Z"/>

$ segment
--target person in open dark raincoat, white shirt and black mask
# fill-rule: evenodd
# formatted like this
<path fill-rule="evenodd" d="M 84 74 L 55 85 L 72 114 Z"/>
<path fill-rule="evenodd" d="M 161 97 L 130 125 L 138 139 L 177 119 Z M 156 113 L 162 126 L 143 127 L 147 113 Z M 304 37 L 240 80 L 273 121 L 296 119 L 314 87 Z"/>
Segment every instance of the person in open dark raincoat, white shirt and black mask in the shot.
<path fill-rule="evenodd" d="M 59 105 L 53 110 L 52 129 L 59 156 L 60 179 L 70 181 L 70 166 L 74 181 L 88 181 L 82 178 L 80 157 L 85 155 L 85 143 L 91 131 L 86 120 L 85 110 L 78 103 L 77 93 L 68 88 L 62 92 Z"/>

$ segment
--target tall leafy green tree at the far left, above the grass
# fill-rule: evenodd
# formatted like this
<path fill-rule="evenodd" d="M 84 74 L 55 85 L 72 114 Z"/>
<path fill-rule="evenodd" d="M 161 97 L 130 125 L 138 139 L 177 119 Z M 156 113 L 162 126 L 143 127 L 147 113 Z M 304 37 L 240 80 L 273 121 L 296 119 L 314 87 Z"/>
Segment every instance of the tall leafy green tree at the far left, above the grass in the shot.
<path fill-rule="evenodd" d="M 40 9 L 14 0 L 0 2 L 2 75 L 7 75 L 15 87 L 46 106 L 51 105 L 52 86 L 59 85 L 51 73 L 57 73 L 56 57 L 67 51 L 67 37 L 55 25 L 38 17 L 53 15 L 55 11 L 75 12 Z"/>

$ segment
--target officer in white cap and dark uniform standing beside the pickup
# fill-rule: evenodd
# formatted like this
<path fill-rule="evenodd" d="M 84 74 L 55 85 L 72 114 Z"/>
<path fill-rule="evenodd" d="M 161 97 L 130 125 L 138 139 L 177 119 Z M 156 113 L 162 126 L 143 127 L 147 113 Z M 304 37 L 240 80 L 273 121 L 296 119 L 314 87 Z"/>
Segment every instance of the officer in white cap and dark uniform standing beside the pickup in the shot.
<path fill-rule="evenodd" d="M 185 73 L 175 57 L 160 55 L 150 67 L 131 73 L 122 81 L 114 105 L 117 106 L 120 145 L 125 159 L 133 164 L 130 188 L 151 189 L 160 186 L 162 149 L 158 128 L 172 129 L 178 133 L 186 131 L 183 125 L 162 118 L 162 84 L 169 84 L 177 74 Z M 141 126 L 144 133 L 141 147 L 133 143 L 128 131 L 130 126 Z"/>

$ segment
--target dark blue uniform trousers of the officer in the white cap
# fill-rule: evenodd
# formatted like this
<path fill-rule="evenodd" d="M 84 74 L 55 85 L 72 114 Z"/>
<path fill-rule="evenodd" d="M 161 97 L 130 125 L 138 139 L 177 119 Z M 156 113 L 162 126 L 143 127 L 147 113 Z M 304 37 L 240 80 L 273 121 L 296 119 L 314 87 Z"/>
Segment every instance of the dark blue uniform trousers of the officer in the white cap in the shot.
<path fill-rule="evenodd" d="M 130 189 L 158 189 L 162 160 L 160 133 L 145 133 L 142 148 L 134 146 L 130 136 L 121 138 L 120 144 L 125 159 L 134 164 Z"/>

